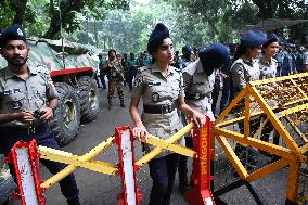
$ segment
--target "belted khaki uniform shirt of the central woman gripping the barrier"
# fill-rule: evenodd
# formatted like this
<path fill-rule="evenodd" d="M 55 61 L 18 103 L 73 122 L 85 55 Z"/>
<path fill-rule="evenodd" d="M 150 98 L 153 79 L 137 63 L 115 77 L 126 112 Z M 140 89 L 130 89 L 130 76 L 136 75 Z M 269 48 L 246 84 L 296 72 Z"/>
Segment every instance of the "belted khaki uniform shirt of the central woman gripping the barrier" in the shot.
<path fill-rule="evenodd" d="M 170 105 L 176 103 L 179 98 L 184 98 L 180 69 L 169 66 L 168 74 L 164 77 L 155 63 L 139 68 L 133 81 L 131 97 L 136 99 L 141 99 L 142 97 L 144 105 Z M 168 139 L 183 127 L 177 108 L 167 114 L 149 114 L 143 112 L 141 120 L 150 134 L 161 139 Z M 184 145 L 183 138 L 179 143 Z M 153 146 L 145 145 L 146 152 L 150 152 L 152 149 Z M 157 157 L 170 153 L 170 151 L 165 150 Z"/>

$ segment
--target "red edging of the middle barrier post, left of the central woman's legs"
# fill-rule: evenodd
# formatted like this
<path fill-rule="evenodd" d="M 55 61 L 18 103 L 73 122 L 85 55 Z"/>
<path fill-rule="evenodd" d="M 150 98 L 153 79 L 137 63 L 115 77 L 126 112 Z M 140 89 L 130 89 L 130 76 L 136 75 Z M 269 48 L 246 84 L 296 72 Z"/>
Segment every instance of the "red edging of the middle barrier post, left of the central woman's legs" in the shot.
<path fill-rule="evenodd" d="M 124 155 L 128 154 L 125 152 L 125 150 L 121 149 L 121 138 L 123 138 L 123 132 L 129 130 L 129 138 L 130 138 L 130 148 L 131 148 L 131 157 L 132 157 L 132 165 L 133 167 L 133 181 L 134 181 L 134 193 L 136 193 L 136 205 L 139 204 L 139 202 L 142 200 L 142 194 L 140 190 L 137 188 L 137 177 L 136 177 L 136 170 L 138 169 L 134 165 L 134 149 L 133 149 L 133 136 L 132 136 L 132 129 L 130 126 L 123 126 L 123 127 L 116 127 L 115 128 L 115 142 L 118 145 L 118 155 L 119 155 L 119 165 L 118 165 L 118 170 L 119 175 L 123 179 L 123 192 L 119 194 L 119 205 L 129 205 L 126 191 L 127 191 L 127 184 L 125 183 L 125 174 L 124 174 Z"/>

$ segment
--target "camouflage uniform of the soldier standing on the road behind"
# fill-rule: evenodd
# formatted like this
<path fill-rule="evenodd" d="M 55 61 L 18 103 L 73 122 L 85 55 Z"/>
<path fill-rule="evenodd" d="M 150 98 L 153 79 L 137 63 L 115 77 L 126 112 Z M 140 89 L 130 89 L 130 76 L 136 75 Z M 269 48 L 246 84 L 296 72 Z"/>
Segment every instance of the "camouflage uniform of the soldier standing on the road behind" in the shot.
<path fill-rule="evenodd" d="M 107 60 L 105 62 L 105 67 L 108 72 L 108 108 L 111 108 L 111 105 L 113 103 L 113 98 L 114 98 L 114 92 L 115 88 L 117 88 L 117 93 L 119 95 L 120 100 L 120 106 L 125 107 L 124 104 L 124 91 L 123 91 L 123 86 L 121 82 L 124 81 L 124 69 L 120 64 L 120 62 L 115 59 L 113 61 Z"/>

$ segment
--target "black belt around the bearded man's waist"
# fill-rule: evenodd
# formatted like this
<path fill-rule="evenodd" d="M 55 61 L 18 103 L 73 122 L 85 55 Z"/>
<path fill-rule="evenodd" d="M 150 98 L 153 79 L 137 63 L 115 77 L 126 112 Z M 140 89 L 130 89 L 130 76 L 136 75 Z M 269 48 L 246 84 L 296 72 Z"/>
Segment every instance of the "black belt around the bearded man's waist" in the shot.
<path fill-rule="evenodd" d="M 41 131 L 44 131 L 48 128 L 47 124 L 40 124 L 35 127 L 1 127 L 0 126 L 0 131 L 5 132 L 5 133 L 24 133 L 24 134 L 34 134 L 34 133 L 39 133 Z"/>

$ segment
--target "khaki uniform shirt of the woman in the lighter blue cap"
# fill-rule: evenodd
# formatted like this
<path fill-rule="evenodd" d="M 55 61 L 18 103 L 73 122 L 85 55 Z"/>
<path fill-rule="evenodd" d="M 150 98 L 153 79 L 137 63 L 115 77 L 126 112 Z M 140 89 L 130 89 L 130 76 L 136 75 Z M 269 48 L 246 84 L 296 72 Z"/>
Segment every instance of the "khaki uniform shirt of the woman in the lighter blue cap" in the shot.
<path fill-rule="evenodd" d="M 260 79 L 259 63 L 257 60 L 251 62 L 242 56 L 232 64 L 231 75 L 236 95 L 249 81 Z"/>

